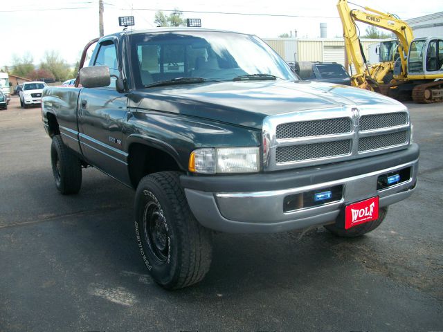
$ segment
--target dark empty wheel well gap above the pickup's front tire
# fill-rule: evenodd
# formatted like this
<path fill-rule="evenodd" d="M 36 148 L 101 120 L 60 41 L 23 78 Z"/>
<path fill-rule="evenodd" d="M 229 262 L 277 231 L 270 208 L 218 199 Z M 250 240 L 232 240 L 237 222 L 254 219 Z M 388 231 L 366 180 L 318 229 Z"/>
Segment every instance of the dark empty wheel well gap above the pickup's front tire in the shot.
<path fill-rule="evenodd" d="M 156 172 L 182 171 L 177 161 L 170 154 L 140 143 L 129 146 L 129 177 L 134 188 L 143 176 Z"/>

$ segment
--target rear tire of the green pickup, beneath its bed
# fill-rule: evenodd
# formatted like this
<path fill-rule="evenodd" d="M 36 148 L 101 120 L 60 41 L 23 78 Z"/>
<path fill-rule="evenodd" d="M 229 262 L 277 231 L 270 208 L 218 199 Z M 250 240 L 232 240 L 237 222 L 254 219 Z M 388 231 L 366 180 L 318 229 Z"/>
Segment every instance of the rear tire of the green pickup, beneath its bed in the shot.
<path fill-rule="evenodd" d="M 53 137 L 51 164 L 55 186 L 62 194 L 77 194 L 82 186 L 82 164 L 80 159 L 64 145 L 60 135 Z"/>

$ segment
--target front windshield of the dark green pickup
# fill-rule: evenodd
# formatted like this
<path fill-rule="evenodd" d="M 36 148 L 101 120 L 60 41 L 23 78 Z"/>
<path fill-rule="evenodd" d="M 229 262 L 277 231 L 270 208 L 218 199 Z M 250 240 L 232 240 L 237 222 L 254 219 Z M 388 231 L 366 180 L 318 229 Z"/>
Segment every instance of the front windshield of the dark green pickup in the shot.
<path fill-rule="evenodd" d="M 131 38 L 138 87 L 179 77 L 230 81 L 242 75 L 267 74 L 297 80 L 269 46 L 251 35 L 179 31 L 134 34 Z"/>

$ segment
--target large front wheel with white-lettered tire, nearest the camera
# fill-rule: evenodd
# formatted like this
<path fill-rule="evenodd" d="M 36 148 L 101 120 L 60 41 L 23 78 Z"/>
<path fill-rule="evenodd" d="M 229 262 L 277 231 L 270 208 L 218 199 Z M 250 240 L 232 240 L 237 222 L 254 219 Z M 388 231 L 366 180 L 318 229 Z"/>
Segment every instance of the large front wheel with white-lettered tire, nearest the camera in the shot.
<path fill-rule="evenodd" d="M 166 289 L 200 282 L 212 257 L 212 234 L 192 215 L 179 175 L 147 175 L 136 191 L 138 248 L 154 281 Z"/>

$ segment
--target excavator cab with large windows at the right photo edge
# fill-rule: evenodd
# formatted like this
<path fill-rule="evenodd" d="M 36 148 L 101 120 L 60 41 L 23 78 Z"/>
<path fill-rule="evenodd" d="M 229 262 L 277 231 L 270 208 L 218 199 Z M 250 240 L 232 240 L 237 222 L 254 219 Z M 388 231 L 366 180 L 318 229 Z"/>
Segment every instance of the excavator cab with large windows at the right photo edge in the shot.
<path fill-rule="evenodd" d="M 438 77 L 433 77 L 434 75 Z M 443 39 L 437 37 L 414 39 L 410 44 L 408 55 L 409 78 L 441 78 L 442 75 Z"/>

